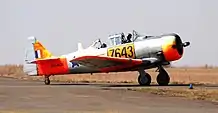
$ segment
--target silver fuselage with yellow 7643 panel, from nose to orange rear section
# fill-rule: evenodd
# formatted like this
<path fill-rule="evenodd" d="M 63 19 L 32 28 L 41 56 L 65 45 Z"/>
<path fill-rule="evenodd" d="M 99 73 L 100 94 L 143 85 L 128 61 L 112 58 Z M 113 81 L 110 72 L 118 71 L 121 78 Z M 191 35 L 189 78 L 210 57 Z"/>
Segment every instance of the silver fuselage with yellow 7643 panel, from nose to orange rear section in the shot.
<path fill-rule="evenodd" d="M 183 55 L 183 47 L 180 37 L 176 34 L 143 38 L 135 42 L 109 46 L 106 48 L 98 49 L 88 47 L 70 54 L 62 55 L 62 57 L 67 59 L 69 74 L 100 72 L 98 69 L 70 62 L 72 59 L 84 55 L 125 57 L 133 59 L 158 58 L 160 59 L 160 63 L 162 63 L 180 59 Z M 152 68 L 152 66 L 144 68 Z"/>

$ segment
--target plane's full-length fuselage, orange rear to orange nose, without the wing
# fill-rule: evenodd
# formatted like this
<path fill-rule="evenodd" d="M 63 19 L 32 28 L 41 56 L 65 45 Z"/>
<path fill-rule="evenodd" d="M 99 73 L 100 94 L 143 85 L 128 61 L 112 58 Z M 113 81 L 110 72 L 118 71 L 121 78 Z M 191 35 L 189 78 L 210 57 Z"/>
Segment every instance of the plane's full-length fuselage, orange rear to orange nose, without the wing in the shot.
<path fill-rule="evenodd" d="M 40 45 L 41 46 L 41 45 Z M 47 51 L 45 51 L 47 52 Z M 47 54 L 42 54 L 47 55 Z M 134 42 L 123 43 L 104 48 L 90 46 L 85 49 L 65 54 L 59 59 L 50 59 L 45 61 L 37 61 L 36 64 L 24 65 L 24 72 L 28 75 L 63 75 L 63 74 L 82 74 L 82 73 L 98 73 L 99 68 L 90 68 L 71 60 L 81 56 L 107 56 L 120 57 L 130 59 L 154 58 L 158 59 L 155 62 L 158 65 L 167 64 L 168 62 L 178 60 L 183 55 L 183 43 L 177 34 L 166 34 L 152 37 L 138 37 Z M 154 68 L 157 65 L 139 65 L 126 70 L 119 71 L 137 71 L 140 69 Z"/>

